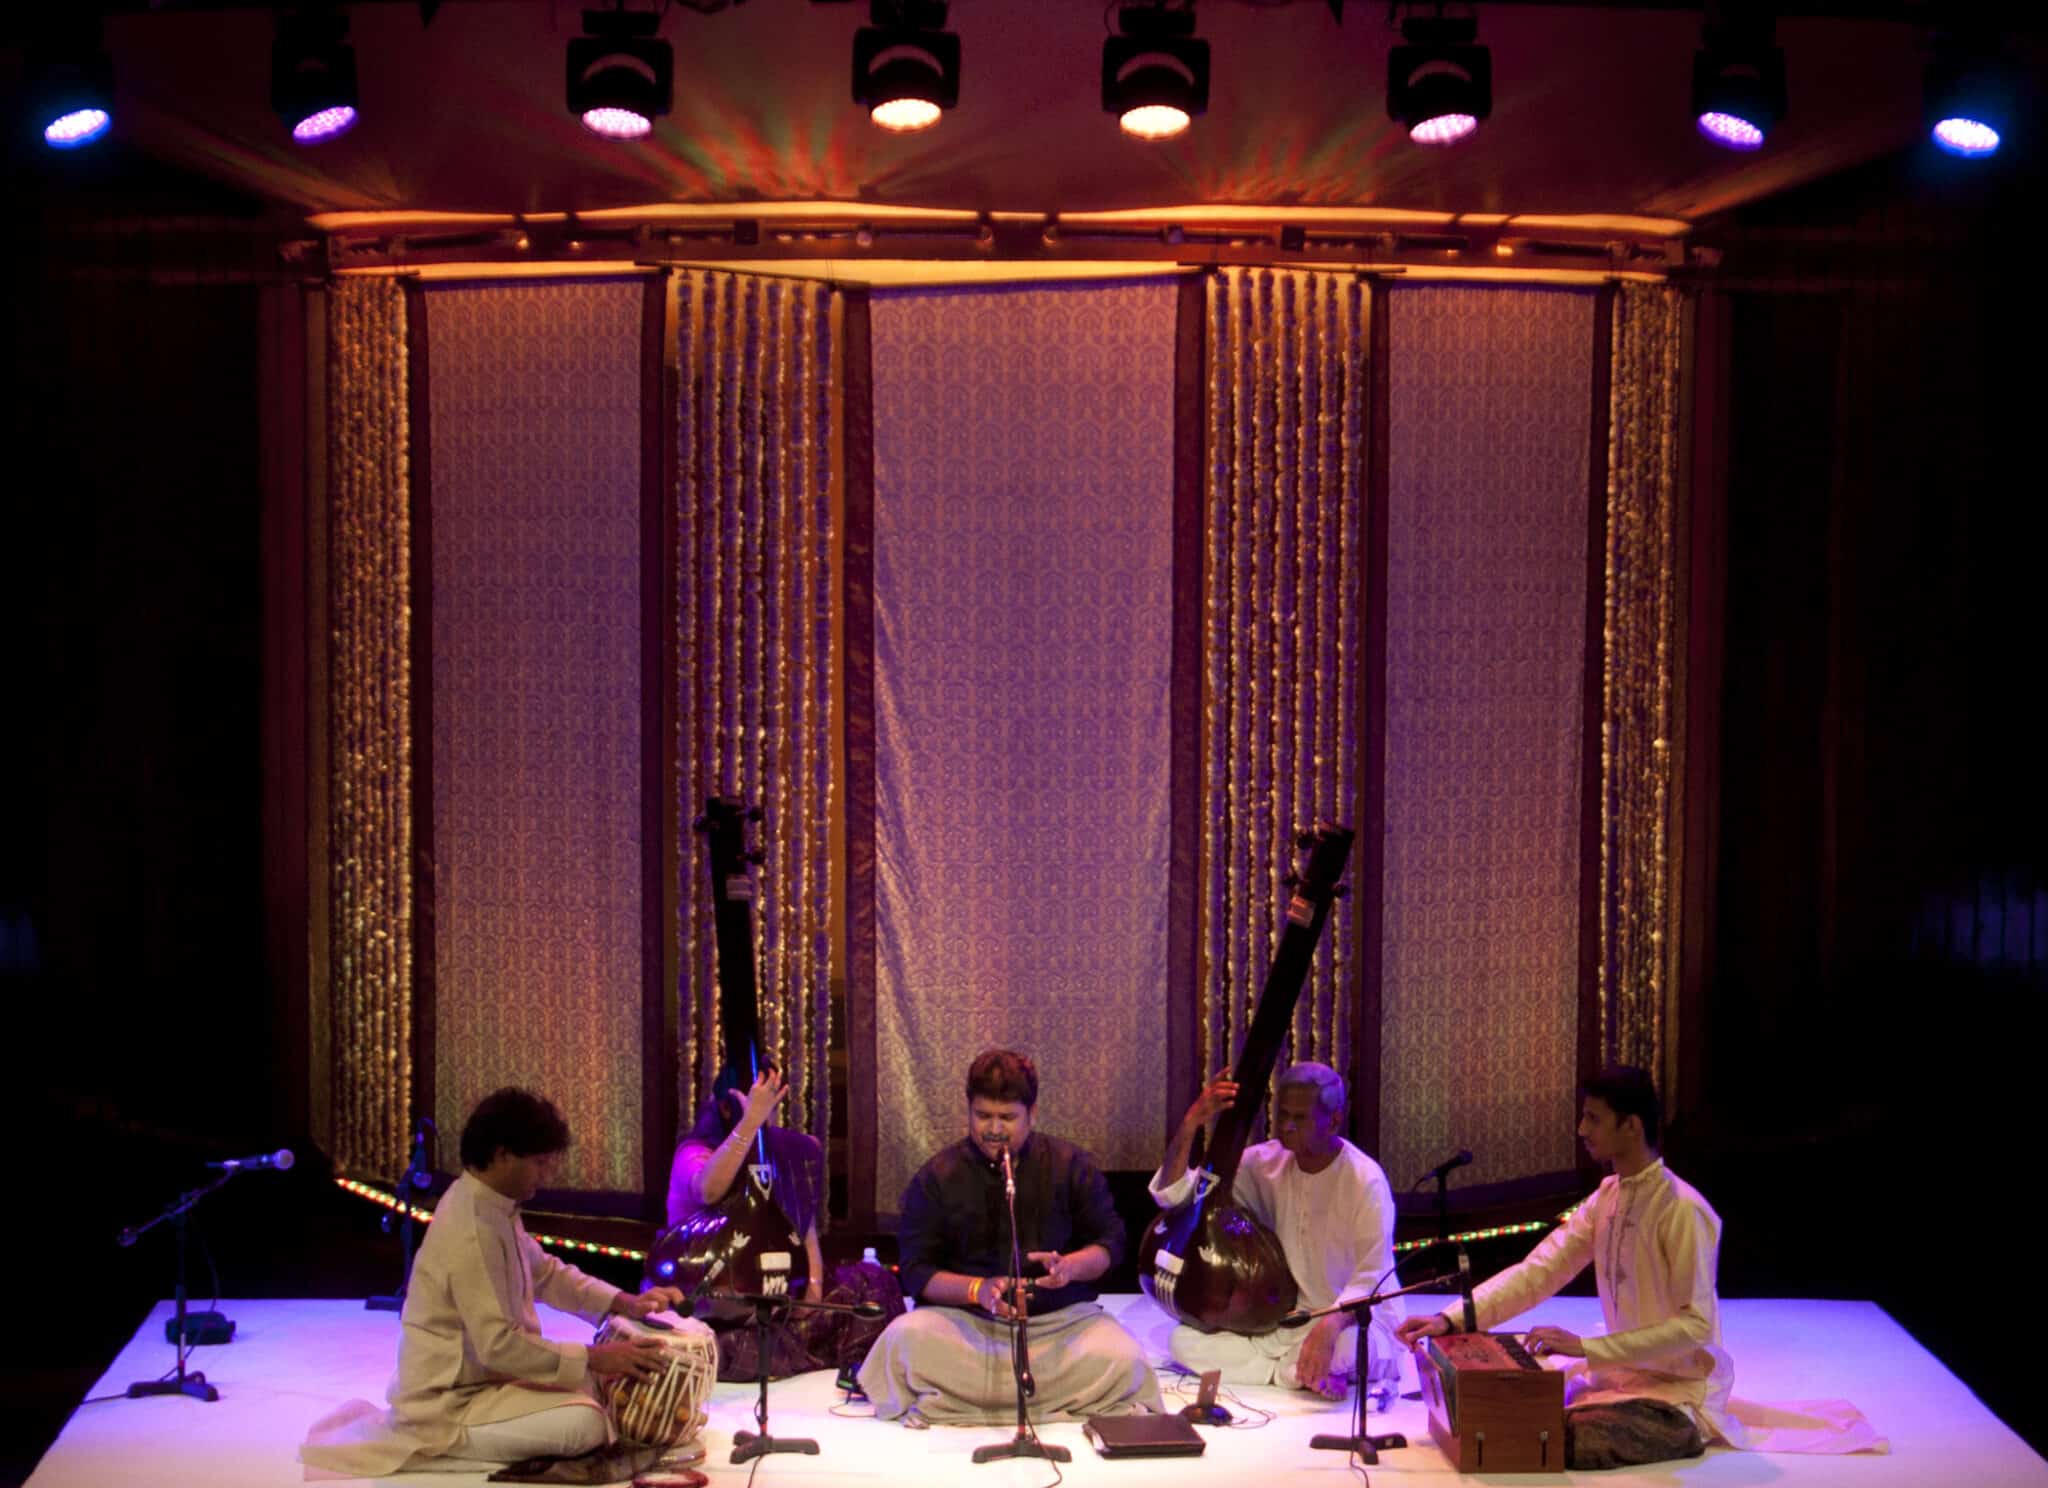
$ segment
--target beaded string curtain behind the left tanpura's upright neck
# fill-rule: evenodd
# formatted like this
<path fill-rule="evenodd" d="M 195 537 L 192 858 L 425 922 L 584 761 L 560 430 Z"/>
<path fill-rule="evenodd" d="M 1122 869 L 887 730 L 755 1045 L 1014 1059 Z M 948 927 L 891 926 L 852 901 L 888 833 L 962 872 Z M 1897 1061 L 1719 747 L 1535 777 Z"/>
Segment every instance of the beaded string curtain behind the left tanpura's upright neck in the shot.
<path fill-rule="evenodd" d="M 838 291 L 788 278 L 672 280 L 678 387 L 676 778 L 688 1124 L 719 1070 L 717 939 L 702 839 L 723 794 L 760 806 L 754 960 L 762 1046 L 791 1093 L 778 1122 L 827 1134 L 829 823 Z"/>

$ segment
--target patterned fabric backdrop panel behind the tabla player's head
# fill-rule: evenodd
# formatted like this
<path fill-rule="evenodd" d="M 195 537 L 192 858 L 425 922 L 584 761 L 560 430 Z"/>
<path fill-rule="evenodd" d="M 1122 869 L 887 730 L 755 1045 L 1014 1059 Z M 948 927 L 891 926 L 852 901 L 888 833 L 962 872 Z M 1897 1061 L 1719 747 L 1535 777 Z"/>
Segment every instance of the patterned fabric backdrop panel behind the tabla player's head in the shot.
<path fill-rule="evenodd" d="M 426 291 L 434 1120 L 545 1091 L 639 1193 L 641 280 Z"/>

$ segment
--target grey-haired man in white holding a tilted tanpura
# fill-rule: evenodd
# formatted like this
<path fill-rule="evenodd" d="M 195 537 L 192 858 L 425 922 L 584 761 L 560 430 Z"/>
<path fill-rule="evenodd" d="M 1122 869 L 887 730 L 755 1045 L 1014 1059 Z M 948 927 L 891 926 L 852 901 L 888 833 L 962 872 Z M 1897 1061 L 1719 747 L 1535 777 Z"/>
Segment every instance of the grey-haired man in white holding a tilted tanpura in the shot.
<path fill-rule="evenodd" d="M 1188 1169 L 1194 1134 L 1235 1099 L 1237 1081 L 1225 1073 L 1188 1107 L 1153 1173 L 1151 1195 L 1159 1208 L 1194 1195 L 1196 1179 Z M 1278 1083 L 1272 1140 L 1247 1146 L 1237 1167 L 1235 1197 L 1280 1236 L 1305 1312 L 1368 1298 L 1374 1283 L 1393 1281 L 1395 1195 L 1380 1165 L 1341 1136 L 1343 1111 L 1337 1070 L 1315 1062 L 1288 1066 Z M 1382 1302 L 1366 1330 L 1366 1386 L 1384 1396 L 1393 1396 L 1401 1380 L 1393 1332 L 1401 1316 L 1399 1298 Z M 1358 1371 L 1358 1332 L 1352 1314 L 1343 1312 L 1260 1337 L 1180 1324 L 1167 1347 L 1196 1373 L 1221 1369 L 1231 1384 L 1278 1384 L 1329 1400 L 1341 1400 Z"/>

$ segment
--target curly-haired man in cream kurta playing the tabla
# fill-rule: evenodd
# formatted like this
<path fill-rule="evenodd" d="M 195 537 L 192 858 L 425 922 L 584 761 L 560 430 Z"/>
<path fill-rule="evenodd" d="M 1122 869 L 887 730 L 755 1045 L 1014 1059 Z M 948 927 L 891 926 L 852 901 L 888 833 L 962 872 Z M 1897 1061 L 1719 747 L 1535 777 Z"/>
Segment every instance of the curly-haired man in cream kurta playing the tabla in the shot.
<path fill-rule="evenodd" d="M 662 1347 L 555 1343 L 535 1298 L 600 1322 L 643 1318 L 682 1302 L 676 1287 L 633 1296 L 547 1255 L 518 1206 L 569 1146 L 551 1101 L 506 1087 L 463 1126 L 463 1173 L 434 1206 L 412 1265 L 389 1410 L 350 1400 L 299 1447 L 307 1468 L 348 1478 L 393 1472 L 481 1472 L 526 1457 L 575 1457 L 612 1439 L 596 1398 L 600 1375 L 653 1377 Z"/>

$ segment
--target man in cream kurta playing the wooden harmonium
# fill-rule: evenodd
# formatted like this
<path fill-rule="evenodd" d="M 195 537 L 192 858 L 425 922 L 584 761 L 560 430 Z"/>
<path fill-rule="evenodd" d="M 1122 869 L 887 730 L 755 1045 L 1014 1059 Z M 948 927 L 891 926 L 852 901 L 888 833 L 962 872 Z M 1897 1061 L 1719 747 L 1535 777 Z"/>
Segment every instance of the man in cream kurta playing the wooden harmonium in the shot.
<path fill-rule="evenodd" d="M 1528 1312 L 1593 1263 L 1606 1332 L 1528 1330 L 1538 1355 L 1577 1359 L 1565 1386 L 1565 1465 L 1698 1457 L 1729 1435 L 1735 1361 L 1720 1347 L 1720 1216 L 1657 1152 L 1651 1077 L 1618 1064 L 1585 1083 L 1579 1140 L 1612 1163 L 1593 1195 L 1530 1255 L 1473 1294 L 1481 1328 Z M 1462 1306 L 1409 1318 L 1401 1341 L 1460 1326 Z"/>

